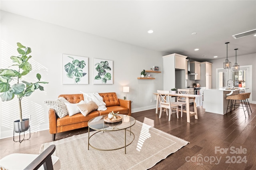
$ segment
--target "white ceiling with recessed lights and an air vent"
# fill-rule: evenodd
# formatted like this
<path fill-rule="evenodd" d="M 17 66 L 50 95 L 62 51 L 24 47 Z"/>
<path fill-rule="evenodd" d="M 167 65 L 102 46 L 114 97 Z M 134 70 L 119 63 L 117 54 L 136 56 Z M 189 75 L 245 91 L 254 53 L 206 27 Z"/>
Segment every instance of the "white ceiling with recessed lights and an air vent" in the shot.
<path fill-rule="evenodd" d="M 232 35 L 256 29 L 256 0 L 228 1 L 13 1 L 6 12 L 110 38 L 163 54 L 207 61 L 256 53 L 256 37 Z M 148 34 L 148 30 L 154 30 Z M 192 36 L 191 34 L 197 34 Z M 198 51 L 194 51 L 199 48 Z M 205 57 L 202 55 L 206 55 Z M 213 58 L 217 55 L 218 58 Z"/>

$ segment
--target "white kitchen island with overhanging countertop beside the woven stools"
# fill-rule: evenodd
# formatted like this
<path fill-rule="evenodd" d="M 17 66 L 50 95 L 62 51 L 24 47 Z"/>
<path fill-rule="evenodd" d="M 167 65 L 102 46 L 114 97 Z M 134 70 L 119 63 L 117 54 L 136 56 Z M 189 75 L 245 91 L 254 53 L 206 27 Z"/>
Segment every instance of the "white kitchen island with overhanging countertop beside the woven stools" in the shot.
<path fill-rule="evenodd" d="M 228 107 L 228 95 L 239 94 L 240 90 L 248 88 L 216 88 L 204 89 L 203 108 L 206 112 L 217 113 L 220 115 L 226 114 Z"/>

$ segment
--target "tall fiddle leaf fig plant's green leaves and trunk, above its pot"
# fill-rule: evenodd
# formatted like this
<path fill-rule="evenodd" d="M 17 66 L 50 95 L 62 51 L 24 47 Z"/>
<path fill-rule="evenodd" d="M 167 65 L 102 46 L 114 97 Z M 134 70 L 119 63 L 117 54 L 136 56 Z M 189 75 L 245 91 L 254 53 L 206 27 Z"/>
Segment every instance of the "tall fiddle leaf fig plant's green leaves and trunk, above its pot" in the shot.
<path fill-rule="evenodd" d="M 10 59 L 12 59 L 12 62 L 15 63 L 10 67 L 16 66 L 18 67 L 17 70 L 0 69 L 0 97 L 2 101 L 10 101 L 15 97 L 15 95 L 17 96 L 21 122 L 21 100 L 23 99 L 23 97 L 30 96 L 36 89 L 43 91 L 44 87 L 42 87 L 40 84 L 47 84 L 48 82 L 40 81 L 41 75 L 39 73 L 36 74 L 36 78 L 38 79 L 38 81 L 35 83 L 20 81 L 22 76 L 27 75 L 32 70 L 32 65 L 28 62 L 28 59 L 30 59 L 32 56 L 27 56 L 32 51 L 30 47 L 25 47 L 21 43 L 17 43 L 17 45 L 17 51 L 20 55 L 10 57 Z M 12 83 L 12 81 L 16 81 L 16 83 Z"/>

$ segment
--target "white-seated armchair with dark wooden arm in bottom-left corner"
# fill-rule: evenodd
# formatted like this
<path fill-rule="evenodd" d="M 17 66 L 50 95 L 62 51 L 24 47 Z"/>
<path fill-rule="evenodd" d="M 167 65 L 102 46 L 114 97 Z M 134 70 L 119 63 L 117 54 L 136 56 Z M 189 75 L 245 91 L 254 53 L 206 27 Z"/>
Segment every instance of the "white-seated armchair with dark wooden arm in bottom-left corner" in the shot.
<path fill-rule="evenodd" d="M 51 145 L 41 154 L 9 154 L 0 160 L 0 167 L 8 170 L 53 170 L 53 164 L 58 161 L 57 156 L 52 156 L 55 145 Z M 44 165 L 44 168 L 40 166 Z M 57 169 L 60 169 L 58 167 Z"/>

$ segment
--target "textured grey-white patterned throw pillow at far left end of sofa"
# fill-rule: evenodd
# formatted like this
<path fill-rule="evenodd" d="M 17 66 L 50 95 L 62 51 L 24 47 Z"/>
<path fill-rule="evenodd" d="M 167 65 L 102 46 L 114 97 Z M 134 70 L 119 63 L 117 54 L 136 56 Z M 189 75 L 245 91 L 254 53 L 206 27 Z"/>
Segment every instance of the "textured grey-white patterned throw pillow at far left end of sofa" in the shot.
<path fill-rule="evenodd" d="M 63 118 L 68 115 L 67 107 L 64 103 L 69 103 L 64 97 L 60 97 L 57 100 L 44 101 L 50 109 L 54 109 L 58 117 Z"/>

